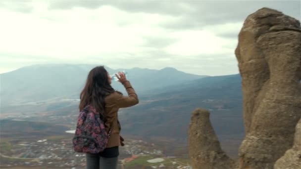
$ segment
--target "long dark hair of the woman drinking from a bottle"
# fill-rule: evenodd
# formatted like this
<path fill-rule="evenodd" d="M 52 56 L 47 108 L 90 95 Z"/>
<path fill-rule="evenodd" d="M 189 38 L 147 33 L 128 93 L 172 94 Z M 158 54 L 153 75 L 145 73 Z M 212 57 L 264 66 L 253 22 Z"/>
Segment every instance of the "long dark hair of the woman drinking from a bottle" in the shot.
<path fill-rule="evenodd" d="M 82 111 L 88 104 L 91 104 L 100 113 L 104 114 L 104 98 L 114 92 L 113 87 L 108 82 L 107 71 L 103 66 L 93 68 L 88 75 L 86 85 L 80 94 L 79 110 Z"/>

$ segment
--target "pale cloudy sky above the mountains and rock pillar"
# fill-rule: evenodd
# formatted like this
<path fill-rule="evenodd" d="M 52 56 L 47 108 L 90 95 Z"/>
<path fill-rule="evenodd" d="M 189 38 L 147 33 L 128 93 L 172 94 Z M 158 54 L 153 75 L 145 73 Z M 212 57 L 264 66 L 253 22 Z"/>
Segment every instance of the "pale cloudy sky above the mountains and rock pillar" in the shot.
<path fill-rule="evenodd" d="M 300 0 L 0 0 L 0 73 L 71 63 L 235 74 L 237 35 L 261 7 L 301 19 Z"/>

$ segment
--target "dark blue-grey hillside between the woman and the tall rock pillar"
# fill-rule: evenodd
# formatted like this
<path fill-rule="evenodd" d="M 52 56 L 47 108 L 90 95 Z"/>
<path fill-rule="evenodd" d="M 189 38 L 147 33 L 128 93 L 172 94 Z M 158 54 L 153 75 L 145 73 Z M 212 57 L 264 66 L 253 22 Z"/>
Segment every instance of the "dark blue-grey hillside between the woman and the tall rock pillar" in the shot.
<path fill-rule="evenodd" d="M 225 150 L 236 154 L 244 138 L 240 75 L 207 77 L 140 95 L 140 104 L 119 116 L 122 133 L 187 143 L 190 117 L 198 107 L 210 111 L 211 123 Z"/>

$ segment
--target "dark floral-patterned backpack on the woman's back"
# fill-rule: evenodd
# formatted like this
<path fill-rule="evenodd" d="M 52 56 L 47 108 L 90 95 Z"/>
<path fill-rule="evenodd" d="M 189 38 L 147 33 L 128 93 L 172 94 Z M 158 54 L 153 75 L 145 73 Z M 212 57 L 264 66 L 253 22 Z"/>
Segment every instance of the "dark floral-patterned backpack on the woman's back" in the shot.
<path fill-rule="evenodd" d="M 110 132 L 106 132 L 100 114 L 89 104 L 79 114 L 73 149 L 78 153 L 97 154 L 105 149 Z"/>

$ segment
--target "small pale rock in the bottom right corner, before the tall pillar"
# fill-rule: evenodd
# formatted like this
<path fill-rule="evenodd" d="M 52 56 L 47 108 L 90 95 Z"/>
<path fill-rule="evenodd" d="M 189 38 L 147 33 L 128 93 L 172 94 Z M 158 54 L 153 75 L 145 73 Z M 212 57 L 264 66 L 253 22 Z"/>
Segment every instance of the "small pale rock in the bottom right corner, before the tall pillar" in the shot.
<path fill-rule="evenodd" d="M 301 120 L 296 126 L 293 148 L 277 160 L 274 169 L 301 169 Z"/>

